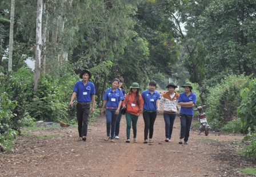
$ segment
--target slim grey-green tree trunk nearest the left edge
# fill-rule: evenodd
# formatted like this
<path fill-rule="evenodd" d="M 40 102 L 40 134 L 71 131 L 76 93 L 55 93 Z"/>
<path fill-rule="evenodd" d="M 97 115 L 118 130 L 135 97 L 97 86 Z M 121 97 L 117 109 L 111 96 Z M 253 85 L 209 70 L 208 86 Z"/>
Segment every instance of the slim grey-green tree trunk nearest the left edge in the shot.
<path fill-rule="evenodd" d="M 8 71 L 12 70 L 13 66 L 13 24 L 14 24 L 15 0 L 11 0 L 11 24 L 10 24 L 10 39 L 9 39 L 9 62 Z"/>

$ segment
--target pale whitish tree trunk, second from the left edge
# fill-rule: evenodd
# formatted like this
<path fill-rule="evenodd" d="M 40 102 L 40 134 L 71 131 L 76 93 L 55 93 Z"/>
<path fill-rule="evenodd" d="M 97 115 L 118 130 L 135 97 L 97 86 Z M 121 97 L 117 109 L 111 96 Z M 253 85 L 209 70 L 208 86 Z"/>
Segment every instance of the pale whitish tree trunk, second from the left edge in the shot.
<path fill-rule="evenodd" d="M 41 46 L 42 46 L 42 10 L 43 0 L 37 0 L 37 34 L 35 48 L 35 75 L 34 75 L 34 92 L 38 88 L 40 78 L 40 61 L 41 61 Z"/>

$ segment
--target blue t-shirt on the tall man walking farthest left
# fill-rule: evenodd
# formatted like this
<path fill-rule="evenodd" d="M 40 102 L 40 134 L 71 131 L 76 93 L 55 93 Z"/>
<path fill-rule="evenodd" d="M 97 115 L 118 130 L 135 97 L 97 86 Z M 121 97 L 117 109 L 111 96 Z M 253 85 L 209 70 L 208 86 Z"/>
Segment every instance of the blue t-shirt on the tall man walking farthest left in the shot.
<path fill-rule="evenodd" d="M 89 81 L 83 85 L 83 81 L 80 80 L 75 83 L 73 92 L 77 93 L 78 102 L 91 102 L 91 96 L 95 94 L 95 87 Z"/>

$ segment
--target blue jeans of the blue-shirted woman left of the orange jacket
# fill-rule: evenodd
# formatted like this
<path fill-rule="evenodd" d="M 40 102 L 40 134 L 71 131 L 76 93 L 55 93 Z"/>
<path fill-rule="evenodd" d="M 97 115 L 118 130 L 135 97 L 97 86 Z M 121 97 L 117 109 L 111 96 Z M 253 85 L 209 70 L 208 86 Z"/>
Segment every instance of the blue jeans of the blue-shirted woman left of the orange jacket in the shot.
<path fill-rule="evenodd" d="M 115 133 L 115 122 L 117 121 L 117 114 L 115 114 L 116 109 L 106 109 L 105 114 L 107 118 L 107 137 L 110 136 L 110 128 L 111 128 L 111 137 L 110 139 L 114 139 Z"/>

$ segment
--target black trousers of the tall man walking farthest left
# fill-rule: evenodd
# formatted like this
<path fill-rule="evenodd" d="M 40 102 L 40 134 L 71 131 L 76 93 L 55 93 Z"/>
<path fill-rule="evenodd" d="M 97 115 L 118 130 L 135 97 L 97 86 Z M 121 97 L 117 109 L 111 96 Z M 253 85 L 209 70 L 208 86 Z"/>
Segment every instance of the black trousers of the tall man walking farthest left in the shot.
<path fill-rule="evenodd" d="M 90 105 L 77 104 L 77 124 L 79 137 L 87 136 Z"/>

